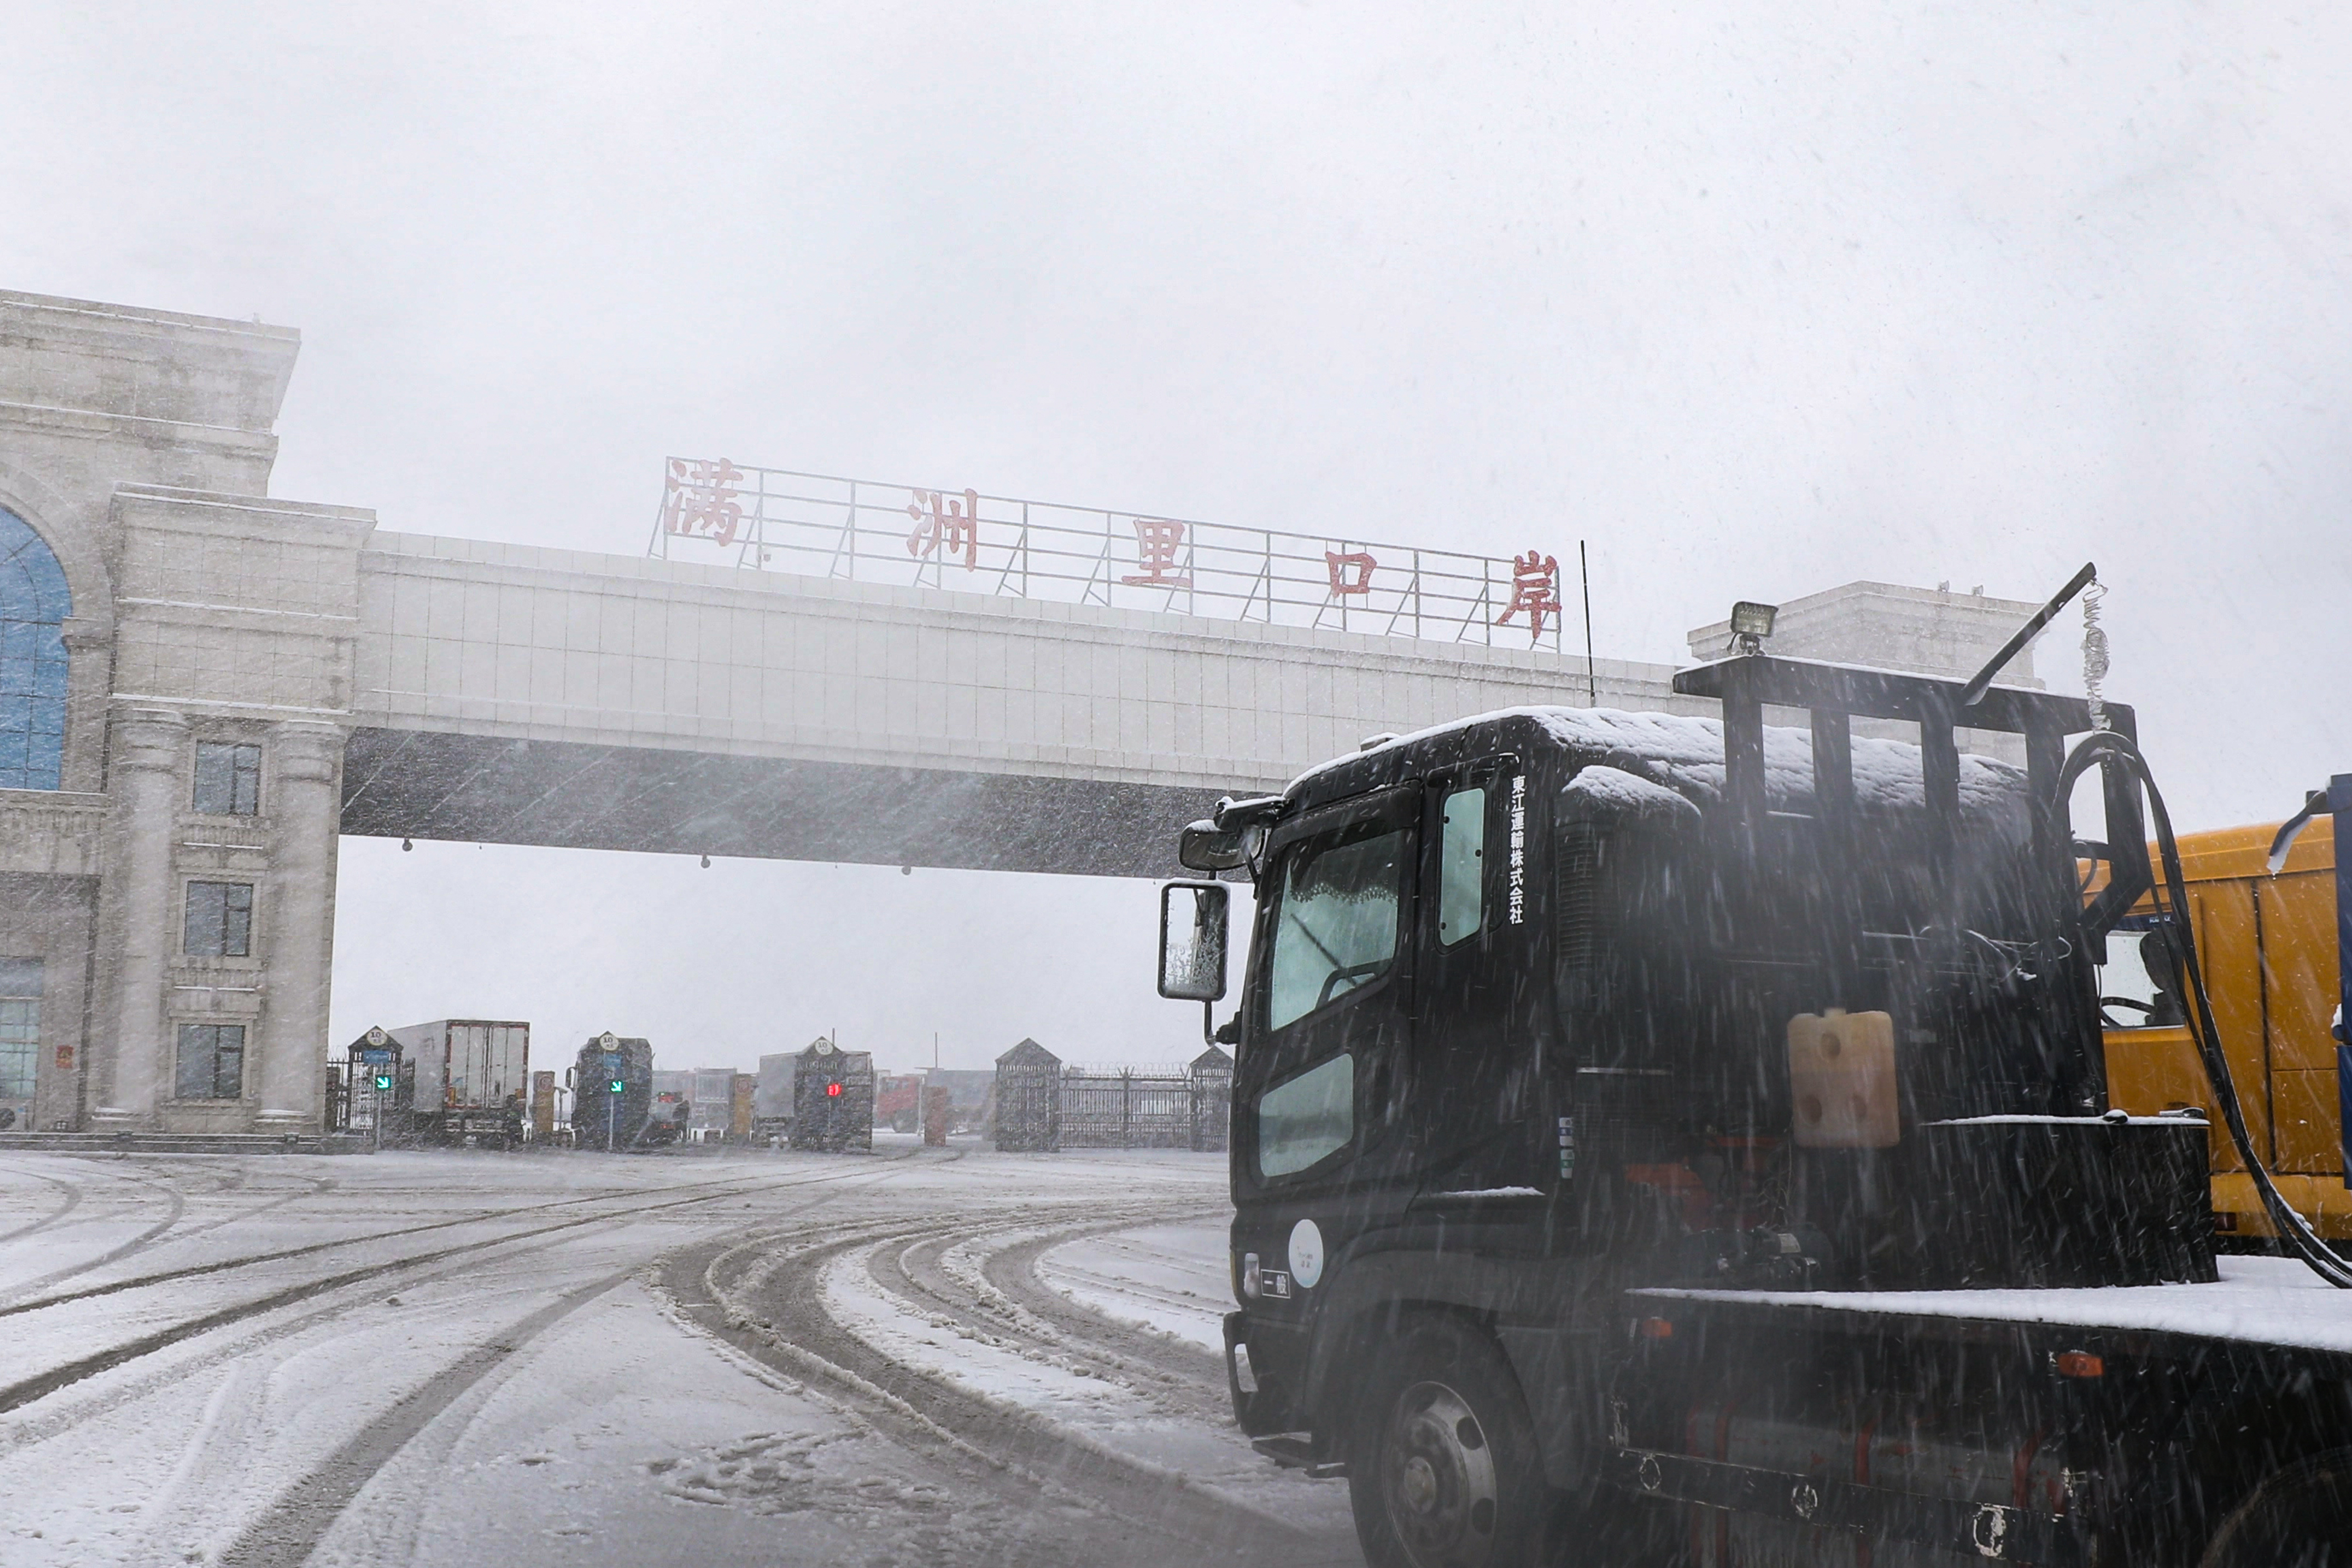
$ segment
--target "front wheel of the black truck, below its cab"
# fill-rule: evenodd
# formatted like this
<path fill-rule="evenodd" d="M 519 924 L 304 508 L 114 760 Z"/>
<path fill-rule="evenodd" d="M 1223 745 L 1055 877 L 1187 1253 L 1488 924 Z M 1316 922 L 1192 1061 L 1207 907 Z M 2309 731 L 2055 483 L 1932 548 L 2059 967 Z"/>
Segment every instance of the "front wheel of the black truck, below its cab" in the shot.
<path fill-rule="evenodd" d="M 1552 1495 L 1510 1366 L 1437 1316 L 1378 1356 L 1348 1443 L 1348 1502 L 1371 1568 L 1526 1568 Z"/>

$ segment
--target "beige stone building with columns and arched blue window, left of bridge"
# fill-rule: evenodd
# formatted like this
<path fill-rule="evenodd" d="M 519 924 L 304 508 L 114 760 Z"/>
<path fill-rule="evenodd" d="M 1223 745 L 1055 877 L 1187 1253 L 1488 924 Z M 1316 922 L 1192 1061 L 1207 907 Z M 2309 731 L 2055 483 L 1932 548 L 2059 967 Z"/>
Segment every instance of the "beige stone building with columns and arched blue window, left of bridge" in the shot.
<path fill-rule="evenodd" d="M 0 1112 L 306 1131 L 358 550 L 282 327 L 0 294 Z"/>

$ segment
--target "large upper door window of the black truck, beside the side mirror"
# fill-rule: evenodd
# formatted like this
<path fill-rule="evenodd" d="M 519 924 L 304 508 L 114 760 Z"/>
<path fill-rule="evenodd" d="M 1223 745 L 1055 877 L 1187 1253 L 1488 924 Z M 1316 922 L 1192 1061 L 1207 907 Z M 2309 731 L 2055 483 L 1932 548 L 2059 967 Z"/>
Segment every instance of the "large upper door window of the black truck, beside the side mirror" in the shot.
<path fill-rule="evenodd" d="M 1265 1027 L 1388 973 L 1402 884 L 1404 830 L 1392 823 L 1359 823 L 1291 851 L 1275 903 Z"/>

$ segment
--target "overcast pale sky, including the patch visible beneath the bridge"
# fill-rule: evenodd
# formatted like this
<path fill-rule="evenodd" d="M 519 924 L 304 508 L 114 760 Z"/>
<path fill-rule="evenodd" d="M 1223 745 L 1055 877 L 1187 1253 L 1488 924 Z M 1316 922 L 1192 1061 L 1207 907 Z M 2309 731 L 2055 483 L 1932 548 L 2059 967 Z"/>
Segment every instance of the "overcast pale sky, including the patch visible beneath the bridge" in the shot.
<path fill-rule="evenodd" d="M 275 491 L 637 552 L 666 454 L 1482 552 L 1604 656 L 2112 585 L 2183 825 L 2352 769 L 2352 12 L 42 5 L 0 287 L 301 327 Z M 2060 684 L 2074 623 L 2042 644 Z M 1145 886 L 348 839 L 339 1037 L 1178 1058 Z"/>

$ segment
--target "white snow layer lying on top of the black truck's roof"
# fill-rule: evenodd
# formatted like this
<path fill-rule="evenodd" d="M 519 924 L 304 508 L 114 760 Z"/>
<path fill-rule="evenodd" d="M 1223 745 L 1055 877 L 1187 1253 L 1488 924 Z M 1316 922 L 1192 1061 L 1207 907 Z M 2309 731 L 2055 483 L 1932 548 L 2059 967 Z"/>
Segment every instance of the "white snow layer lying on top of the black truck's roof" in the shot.
<path fill-rule="evenodd" d="M 1658 790 L 1708 806 L 1724 792 L 1724 722 L 1672 712 L 1623 712 L 1618 708 L 1498 708 L 1496 712 L 1432 724 L 1392 736 L 1362 752 L 1322 762 L 1291 780 L 1284 795 L 1362 757 L 1423 745 L 1475 724 L 1534 719 L 1562 750 L 1581 752 L 1623 776 L 1585 780 L 1583 790 L 1602 809 L 1658 809 Z M 1590 771 L 1590 766 L 1585 769 Z M 1632 785 L 1632 788 L 1628 788 Z M 1644 788 L 1646 785 L 1646 788 Z M 1813 733 L 1785 724 L 1764 726 L 1764 795 L 1773 809 L 1804 809 L 1813 799 Z M 1853 799 L 1867 809 L 1922 806 L 1926 788 L 1919 748 L 1907 741 L 1853 738 Z M 1670 806 L 1668 806 L 1670 809 Z M 1959 809 L 1971 818 L 2023 818 L 2025 769 L 1997 757 L 1959 755 Z"/>

